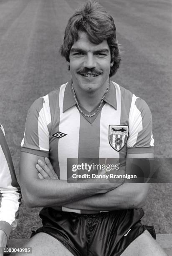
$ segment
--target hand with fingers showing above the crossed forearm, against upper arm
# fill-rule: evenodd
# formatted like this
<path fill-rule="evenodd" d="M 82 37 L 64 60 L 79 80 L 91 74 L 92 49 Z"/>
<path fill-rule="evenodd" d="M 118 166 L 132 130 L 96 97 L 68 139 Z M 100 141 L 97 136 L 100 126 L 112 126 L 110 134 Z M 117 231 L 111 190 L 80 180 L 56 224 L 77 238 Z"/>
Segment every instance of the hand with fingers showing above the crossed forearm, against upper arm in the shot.
<path fill-rule="evenodd" d="M 45 157 L 45 162 L 39 159 L 35 167 L 38 171 L 38 177 L 40 179 L 58 179 L 58 176 L 55 173 L 48 157 Z"/>

